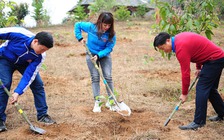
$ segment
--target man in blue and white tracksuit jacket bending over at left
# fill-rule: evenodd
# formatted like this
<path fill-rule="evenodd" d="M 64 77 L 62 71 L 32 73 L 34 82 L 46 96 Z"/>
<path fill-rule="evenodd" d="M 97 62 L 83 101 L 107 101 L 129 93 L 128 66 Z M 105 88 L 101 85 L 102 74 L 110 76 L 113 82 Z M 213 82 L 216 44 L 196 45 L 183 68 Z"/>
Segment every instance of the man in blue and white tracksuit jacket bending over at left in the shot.
<path fill-rule="evenodd" d="M 53 47 L 53 37 L 47 32 L 39 32 L 35 35 L 21 27 L 8 27 L 0 28 L 0 40 L 5 41 L 0 46 L 0 79 L 4 86 L 10 90 L 15 70 L 22 74 L 22 78 L 10 98 L 10 103 L 17 102 L 19 95 L 22 95 L 30 86 L 34 95 L 38 121 L 47 124 L 55 123 L 47 114 L 45 91 L 38 73 L 46 57 L 45 51 Z M 0 132 L 6 130 L 7 103 L 8 95 L 1 86 Z"/>

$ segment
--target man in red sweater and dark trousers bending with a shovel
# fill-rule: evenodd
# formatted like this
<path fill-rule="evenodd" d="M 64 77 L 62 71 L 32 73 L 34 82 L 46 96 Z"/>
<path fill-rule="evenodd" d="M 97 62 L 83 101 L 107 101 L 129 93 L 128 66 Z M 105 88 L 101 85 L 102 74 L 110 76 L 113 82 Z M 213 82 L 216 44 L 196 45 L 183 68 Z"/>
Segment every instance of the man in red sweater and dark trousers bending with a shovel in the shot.
<path fill-rule="evenodd" d="M 183 32 L 171 37 L 161 32 L 154 39 L 154 47 L 166 53 L 173 51 L 181 66 L 182 94 L 180 100 L 187 100 L 190 85 L 190 62 L 196 63 L 196 110 L 194 121 L 189 125 L 180 126 L 182 130 L 196 130 L 206 124 L 207 101 L 211 102 L 217 116 L 211 121 L 221 121 L 224 117 L 224 103 L 218 93 L 218 85 L 224 68 L 224 51 L 207 38 L 192 32 Z"/>

